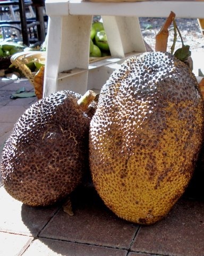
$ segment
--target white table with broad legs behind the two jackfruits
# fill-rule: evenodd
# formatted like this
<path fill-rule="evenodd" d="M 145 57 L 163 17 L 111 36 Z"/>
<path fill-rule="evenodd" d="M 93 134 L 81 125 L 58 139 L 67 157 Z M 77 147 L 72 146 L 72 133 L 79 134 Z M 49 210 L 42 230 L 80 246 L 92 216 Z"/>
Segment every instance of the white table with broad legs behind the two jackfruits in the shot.
<path fill-rule="evenodd" d="M 203 1 L 83 2 L 46 0 L 48 20 L 44 96 L 59 90 L 100 90 L 125 58 L 146 51 L 139 17 L 204 18 Z M 101 15 L 111 58 L 89 63 L 93 15 Z"/>

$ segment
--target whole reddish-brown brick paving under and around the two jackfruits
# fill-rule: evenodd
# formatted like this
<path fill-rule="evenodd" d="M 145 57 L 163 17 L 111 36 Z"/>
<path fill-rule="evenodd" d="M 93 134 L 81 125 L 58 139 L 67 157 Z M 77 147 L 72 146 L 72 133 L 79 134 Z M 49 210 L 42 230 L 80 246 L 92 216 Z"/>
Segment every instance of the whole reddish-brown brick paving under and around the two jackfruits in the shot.
<path fill-rule="evenodd" d="M 0 81 L 0 147 L 23 111 L 37 99 L 11 99 L 27 79 Z M 200 175 L 200 174 L 199 174 Z M 198 175 L 198 176 L 199 176 Z M 74 215 L 62 202 L 49 207 L 23 205 L 0 183 L 1 256 L 204 256 L 204 188 L 199 176 L 169 214 L 151 226 L 117 218 L 93 187 L 72 194 Z"/>

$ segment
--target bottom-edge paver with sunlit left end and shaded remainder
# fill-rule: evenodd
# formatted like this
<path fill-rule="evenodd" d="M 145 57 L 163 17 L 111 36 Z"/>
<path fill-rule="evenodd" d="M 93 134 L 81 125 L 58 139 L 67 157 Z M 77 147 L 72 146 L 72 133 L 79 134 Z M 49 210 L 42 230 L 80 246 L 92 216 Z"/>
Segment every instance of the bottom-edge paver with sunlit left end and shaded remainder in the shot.
<path fill-rule="evenodd" d="M 40 238 L 22 256 L 126 256 L 126 250 Z"/>

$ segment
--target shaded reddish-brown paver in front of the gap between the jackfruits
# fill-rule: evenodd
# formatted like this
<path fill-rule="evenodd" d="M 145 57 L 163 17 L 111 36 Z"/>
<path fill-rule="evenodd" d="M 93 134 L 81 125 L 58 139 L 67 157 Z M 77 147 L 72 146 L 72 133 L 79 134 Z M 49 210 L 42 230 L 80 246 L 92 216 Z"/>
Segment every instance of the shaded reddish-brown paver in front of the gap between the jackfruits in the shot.
<path fill-rule="evenodd" d="M 117 218 L 101 203 L 94 189 L 89 190 L 73 198 L 73 204 L 78 202 L 74 216 L 59 211 L 39 237 L 128 249 L 138 225 Z"/>

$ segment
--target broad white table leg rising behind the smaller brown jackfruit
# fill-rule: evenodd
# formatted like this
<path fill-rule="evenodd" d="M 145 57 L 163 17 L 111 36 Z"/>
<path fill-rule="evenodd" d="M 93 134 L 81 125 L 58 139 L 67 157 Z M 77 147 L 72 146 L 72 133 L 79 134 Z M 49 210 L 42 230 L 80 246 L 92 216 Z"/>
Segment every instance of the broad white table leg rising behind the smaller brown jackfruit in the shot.
<path fill-rule="evenodd" d="M 86 92 L 91 22 L 91 15 L 49 17 L 44 96 L 65 89 Z"/>

